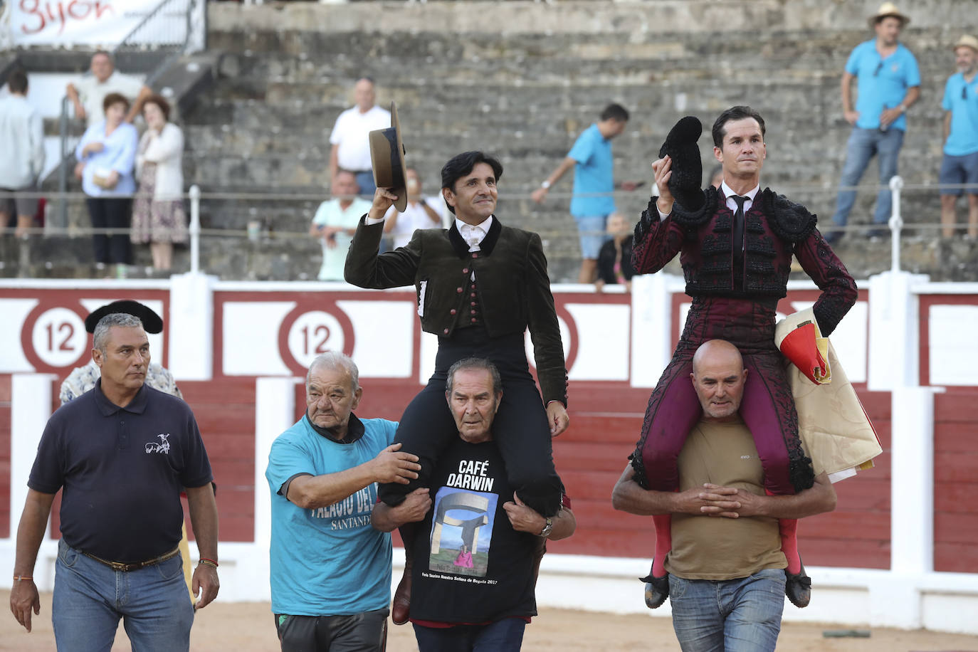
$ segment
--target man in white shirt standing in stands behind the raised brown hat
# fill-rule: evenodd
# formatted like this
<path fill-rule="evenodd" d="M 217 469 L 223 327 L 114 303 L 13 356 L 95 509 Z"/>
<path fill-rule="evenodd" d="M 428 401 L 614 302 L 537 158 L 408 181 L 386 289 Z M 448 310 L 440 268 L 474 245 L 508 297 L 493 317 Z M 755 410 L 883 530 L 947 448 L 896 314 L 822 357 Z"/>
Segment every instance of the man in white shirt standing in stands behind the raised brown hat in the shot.
<path fill-rule="evenodd" d="M 370 159 L 370 132 L 390 127 L 390 111 L 380 109 L 375 100 L 374 80 L 361 77 L 353 87 L 356 106 L 339 114 L 330 134 L 330 180 L 338 170 L 349 170 L 356 176 L 360 194 L 374 196 L 374 172 Z M 342 275 L 340 275 L 340 278 Z"/>

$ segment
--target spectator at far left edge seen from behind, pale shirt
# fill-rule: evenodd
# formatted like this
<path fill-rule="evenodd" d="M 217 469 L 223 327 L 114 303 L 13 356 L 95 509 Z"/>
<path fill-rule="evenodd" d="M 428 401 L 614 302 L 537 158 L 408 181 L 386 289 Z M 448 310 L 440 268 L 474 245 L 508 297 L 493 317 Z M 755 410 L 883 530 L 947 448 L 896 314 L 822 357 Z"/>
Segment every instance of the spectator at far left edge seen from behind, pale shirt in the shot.
<path fill-rule="evenodd" d="M 40 113 L 27 103 L 27 75 L 14 70 L 7 79 L 10 97 L 0 100 L 0 228 L 17 215 L 18 237 L 25 236 L 34 214 L 36 197 L 11 197 L 7 192 L 37 190 L 44 167 L 44 125 Z"/>

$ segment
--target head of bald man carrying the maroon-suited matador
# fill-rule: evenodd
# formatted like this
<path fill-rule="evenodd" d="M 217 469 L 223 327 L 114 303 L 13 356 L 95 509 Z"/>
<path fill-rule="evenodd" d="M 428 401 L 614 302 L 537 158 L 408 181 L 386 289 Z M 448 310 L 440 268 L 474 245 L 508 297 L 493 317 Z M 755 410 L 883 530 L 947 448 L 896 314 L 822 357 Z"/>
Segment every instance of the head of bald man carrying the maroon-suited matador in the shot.
<path fill-rule="evenodd" d="M 747 369 L 733 344 L 723 339 L 704 342 L 692 357 L 692 386 L 707 421 L 732 421 L 737 418 Z"/>

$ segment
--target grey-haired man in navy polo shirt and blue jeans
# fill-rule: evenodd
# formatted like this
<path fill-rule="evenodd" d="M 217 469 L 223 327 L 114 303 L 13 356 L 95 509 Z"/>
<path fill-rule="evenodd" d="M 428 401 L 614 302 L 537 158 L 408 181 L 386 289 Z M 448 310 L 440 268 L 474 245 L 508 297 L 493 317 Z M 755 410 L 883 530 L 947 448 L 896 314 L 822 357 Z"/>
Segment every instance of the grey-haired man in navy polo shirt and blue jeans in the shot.
<path fill-rule="evenodd" d="M 27 481 L 11 611 L 40 613 L 31 578 L 55 494 L 61 533 L 52 622 L 59 650 L 106 650 L 121 618 L 133 649 L 188 650 L 194 607 L 184 583 L 185 489 L 200 549 L 197 608 L 217 595 L 217 505 L 194 414 L 146 385 L 142 322 L 113 313 L 95 327 L 95 387 L 51 416 Z"/>

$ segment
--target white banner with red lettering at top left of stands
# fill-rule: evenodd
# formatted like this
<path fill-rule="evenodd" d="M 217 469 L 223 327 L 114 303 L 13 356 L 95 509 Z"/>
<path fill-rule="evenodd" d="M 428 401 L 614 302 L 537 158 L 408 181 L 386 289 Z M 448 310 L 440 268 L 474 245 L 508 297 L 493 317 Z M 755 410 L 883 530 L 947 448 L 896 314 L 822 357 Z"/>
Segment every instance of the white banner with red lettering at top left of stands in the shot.
<path fill-rule="evenodd" d="M 111 48 L 161 0 L 12 0 L 4 28 L 13 46 Z"/>

